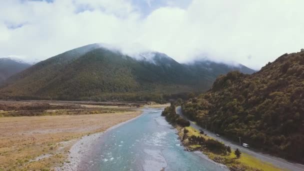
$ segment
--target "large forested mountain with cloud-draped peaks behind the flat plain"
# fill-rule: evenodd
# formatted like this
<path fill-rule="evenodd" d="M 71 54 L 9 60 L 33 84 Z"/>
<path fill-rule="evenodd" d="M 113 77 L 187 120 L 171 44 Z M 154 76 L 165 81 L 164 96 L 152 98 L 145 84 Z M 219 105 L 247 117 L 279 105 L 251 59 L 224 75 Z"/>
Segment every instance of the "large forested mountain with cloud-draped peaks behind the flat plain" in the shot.
<path fill-rule="evenodd" d="M 201 66 L 204 67 L 204 66 Z M 164 53 L 136 57 L 100 44 L 78 47 L 10 77 L 0 89 L 2 98 L 79 100 L 162 100 L 162 94 L 206 90 L 218 74 L 235 68 L 212 63 L 180 64 Z M 216 70 L 216 72 L 212 71 Z M 209 75 L 210 74 L 210 75 Z"/>

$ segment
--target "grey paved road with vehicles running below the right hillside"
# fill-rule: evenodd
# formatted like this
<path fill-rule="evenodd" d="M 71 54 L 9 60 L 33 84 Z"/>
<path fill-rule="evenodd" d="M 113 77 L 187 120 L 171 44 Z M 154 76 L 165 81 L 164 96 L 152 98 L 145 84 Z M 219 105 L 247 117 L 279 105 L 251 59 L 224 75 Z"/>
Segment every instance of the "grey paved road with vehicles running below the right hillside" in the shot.
<path fill-rule="evenodd" d="M 176 107 L 176 113 L 179 114 L 180 116 L 184 117 L 185 119 L 187 119 L 181 112 L 181 107 L 178 106 Z M 190 121 L 190 120 L 189 120 Z M 279 158 L 279 157 L 275 157 L 275 156 L 272 156 L 272 155 L 269 155 L 269 154 L 264 154 L 264 153 L 261 153 L 261 152 L 256 152 L 256 151 L 253 151 L 252 149 L 248 149 L 248 148 L 245 148 L 245 147 L 242 147 L 240 145 L 238 145 L 237 143 L 235 142 L 232 142 L 230 140 L 227 140 L 223 137 L 217 137 L 215 135 L 215 133 L 213 132 L 210 132 L 198 125 L 196 125 L 195 123 L 193 123 L 192 121 L 190 121 L 190 126 L 192 126 L 193 128 L 199 130 L 199 129 L 202 129 L 208 136 L 210 137 L 213 137 L 214 139 L 217 139 L 221 142 L 223 142 L 224 144 L 226 145 L 229 145 L 232 149 L 240 149 L 241 152 L 244 152 L 244 153 L 247 153 L 249 155 L 252 155 L 256 158 L 259 158 L 260 160 L 262 161 L 266 161 L 266 162 L 269 162 L 269 163 L 272 163 L 273 165 L 279 167 L 279 168 L 282 168 L 282 169 L 288 169 L 288 170 L 304 170 L 304 165 L 302 164 L 298 164 L 298 163 L 292 163 L 292 162 L 289 162 L 283 158 Z"/>

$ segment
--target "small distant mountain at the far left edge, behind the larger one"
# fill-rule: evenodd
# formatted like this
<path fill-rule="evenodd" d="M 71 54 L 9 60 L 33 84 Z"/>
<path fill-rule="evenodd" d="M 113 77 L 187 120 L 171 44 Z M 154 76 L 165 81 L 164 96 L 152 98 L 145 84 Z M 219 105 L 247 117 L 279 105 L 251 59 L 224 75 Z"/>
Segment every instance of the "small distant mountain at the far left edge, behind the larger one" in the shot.
<path fill-rule="evenodd" d="M 0 83 L 9 76 L 28 68 L 30 64 L 10 57 L 0 58 Z"/>

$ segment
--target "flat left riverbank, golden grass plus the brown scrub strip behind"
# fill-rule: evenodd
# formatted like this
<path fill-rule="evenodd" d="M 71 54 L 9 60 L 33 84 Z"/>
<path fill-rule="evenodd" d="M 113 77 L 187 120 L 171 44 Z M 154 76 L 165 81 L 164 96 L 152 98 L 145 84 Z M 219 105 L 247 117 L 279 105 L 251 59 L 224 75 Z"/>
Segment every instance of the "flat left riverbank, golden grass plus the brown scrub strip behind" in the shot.
<path fill-rule="evenodd" d="M 79 137 L 138 116 L 135 108 L 68 102 L 4 101 L 0 106 L 0 170 L 52 170 L 69 162 Z"/>

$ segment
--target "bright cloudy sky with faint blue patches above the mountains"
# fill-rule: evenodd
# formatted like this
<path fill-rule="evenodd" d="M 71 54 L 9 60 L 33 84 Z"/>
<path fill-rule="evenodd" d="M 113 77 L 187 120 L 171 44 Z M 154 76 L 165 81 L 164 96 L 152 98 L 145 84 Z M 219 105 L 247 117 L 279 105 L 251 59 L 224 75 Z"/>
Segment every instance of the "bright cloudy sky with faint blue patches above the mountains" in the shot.
<path fill-rule="evenodd" d="M 0 56 L 101 42 L 259 69 L 304 48 L 304 0 L 0 0 Z"/>

